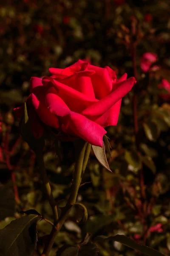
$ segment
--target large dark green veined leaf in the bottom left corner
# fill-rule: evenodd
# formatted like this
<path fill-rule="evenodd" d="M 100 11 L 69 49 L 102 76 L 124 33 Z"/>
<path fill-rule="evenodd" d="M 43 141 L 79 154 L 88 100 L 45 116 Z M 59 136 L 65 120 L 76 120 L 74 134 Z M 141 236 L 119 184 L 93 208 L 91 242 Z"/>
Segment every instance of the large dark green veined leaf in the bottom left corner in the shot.
<path fill-rule="evenodd" d="M 0 255 L 32 256 L 37 243 L 37 221 L 40 217 L 28 215 L 11 221 L 0 230 Z"/>

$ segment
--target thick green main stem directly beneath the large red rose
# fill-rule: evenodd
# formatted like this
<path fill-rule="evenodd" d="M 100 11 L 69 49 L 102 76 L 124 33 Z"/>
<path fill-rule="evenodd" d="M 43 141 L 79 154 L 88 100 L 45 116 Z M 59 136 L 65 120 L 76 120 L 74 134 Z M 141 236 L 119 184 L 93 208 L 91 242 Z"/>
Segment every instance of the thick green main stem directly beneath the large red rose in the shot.
<path fill-rule="evenodd" d="M 75 163 L 75 170 L 74 170 L 74 175 L 73 175 L 73 182 L 71 186 L 71 193 L 68 198 L 65 211 L 62 213 L 62 216 L 60 216 L 57 227 L 58 229 L 52 229 L 50 238 L 45 244 L 44 250 L 42 252 L 42 256 L 48 256 L 50 253 L 51 248 L 53 247 L 54 240 L 59 233 L 59 230 L 61 229 L 62 225 L 64 224 L 71 207 L 73 204 L 76 202 L 77 198 L 77 193 L 79 190 L 79 185 L 81 182 L 81 175 L 82 175 L 82 166 L 83 166 L 83 160 L 84 160 L 84 155 L 85 155 L 85 149 L 86 149 L 86 142 L 84 140 L 77 140 L 75 141 L 75 149 L 76 149 L 76 163 Z M 84 167 L 85 168 L 85 167 Z"/>

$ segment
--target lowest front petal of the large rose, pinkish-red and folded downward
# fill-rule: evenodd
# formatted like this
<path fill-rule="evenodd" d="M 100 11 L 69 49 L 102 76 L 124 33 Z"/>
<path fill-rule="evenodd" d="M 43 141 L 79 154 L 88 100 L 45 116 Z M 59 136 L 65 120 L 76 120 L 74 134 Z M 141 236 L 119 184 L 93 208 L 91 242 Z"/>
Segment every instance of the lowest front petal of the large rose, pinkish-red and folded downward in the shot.
<path fill-rule="evenodd" d="M 66 126 L 68 128 L 66 131 L 68 134 L 72 131 L 71 135 L 76 135 L 92 145 L 102 147 L 103 136 L 107 133 L 104 128 L 78 113 L 71 112 L 65 118 L 67 118 Z"/>

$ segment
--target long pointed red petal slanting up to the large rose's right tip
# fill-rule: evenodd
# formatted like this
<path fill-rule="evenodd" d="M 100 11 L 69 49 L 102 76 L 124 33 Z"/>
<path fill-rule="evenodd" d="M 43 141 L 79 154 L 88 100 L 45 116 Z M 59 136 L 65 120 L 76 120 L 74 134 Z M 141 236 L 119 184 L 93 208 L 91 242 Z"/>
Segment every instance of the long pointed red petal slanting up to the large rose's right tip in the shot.
<path fill-rule="evenodd" d="M 134 77 L 131 77 L 122 82 L 114 83 L 113 85 L 115 89 L 105 98 L 82 111 L 82 115 L 88 116 L 88 118 L 90 118 L 90 116 L 102 115 L 108 111 L 116 102 L 122 99 L 132 89 L 134 83 Z"/>

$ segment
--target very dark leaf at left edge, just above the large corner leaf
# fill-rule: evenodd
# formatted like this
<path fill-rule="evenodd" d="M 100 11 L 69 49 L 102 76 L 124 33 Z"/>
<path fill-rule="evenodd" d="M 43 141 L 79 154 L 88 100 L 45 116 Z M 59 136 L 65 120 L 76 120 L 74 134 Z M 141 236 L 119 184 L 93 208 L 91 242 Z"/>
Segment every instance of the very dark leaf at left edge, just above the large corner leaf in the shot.
<path fill-rule="evenodd" d="M 0 221 L 6 217 L 14 216 L 15 199 L 11 189 L 0 184 Z"/>

